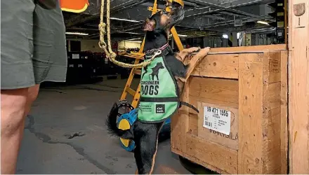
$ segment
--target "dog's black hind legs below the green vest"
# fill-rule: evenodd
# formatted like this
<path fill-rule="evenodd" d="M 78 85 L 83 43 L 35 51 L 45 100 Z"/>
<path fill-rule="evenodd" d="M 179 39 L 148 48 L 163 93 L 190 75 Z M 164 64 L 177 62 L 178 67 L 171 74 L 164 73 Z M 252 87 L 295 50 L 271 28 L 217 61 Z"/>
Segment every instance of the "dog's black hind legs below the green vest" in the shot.
<path fill-rule="evenodd" d="M 138 121 L 137 121 L 138 122 Z M 140 123 L 135 125 L 134 134 L 136 148 L 134 157 L 138 167 L 138 174 L 152 174 L 157 155 L 159 131 L 163 126 L 162 123 L 149 124 Z"/>

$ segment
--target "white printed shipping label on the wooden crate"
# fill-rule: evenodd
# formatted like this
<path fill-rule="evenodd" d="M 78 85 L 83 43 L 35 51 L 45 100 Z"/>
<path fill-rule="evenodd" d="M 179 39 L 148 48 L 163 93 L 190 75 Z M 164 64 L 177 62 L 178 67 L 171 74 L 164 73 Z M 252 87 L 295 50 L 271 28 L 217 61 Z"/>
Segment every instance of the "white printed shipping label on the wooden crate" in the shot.
<path fill-rule="evenodd" d="M 230 111 L 204 106 L 203 127 L 230 135 Z"/>

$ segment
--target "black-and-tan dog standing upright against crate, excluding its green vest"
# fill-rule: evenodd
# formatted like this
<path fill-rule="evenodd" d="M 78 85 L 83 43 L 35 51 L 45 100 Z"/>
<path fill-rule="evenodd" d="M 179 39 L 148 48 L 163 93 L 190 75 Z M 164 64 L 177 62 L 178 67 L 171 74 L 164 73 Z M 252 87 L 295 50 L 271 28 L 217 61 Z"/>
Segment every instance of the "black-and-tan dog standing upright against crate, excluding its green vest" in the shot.
<path fill-rule="evenodd" d="M 166 43 L 168 43 L 171 28 L 180 22 L 180 20 L 183 20 L 183 17 L 184 10 L 179 7 L 171 10 L 170 12 L 161 10 L 148 18 L 143 26 L 143 30 L 146 31 L 144 52 L 154 48 L 162 48 L 162 46 L 166 45 Z M 182 93 L 183 84 L 193 71 L 199 59 L 193 59 L 193 57 L 190 60 L 190 63 L 185 65 L 183 63 L 184 58 L 181 55 L 186 55 L 187 53 L 194 52 L 197 49 L 198 48 L 190 48 L 180 52 L 178 55 L 169 51 L 164 57 L 166 60 L 166 66 L 169 67 L 172 75 L 177 80 L 179 94 Z M 203 54 L 199 55 L 200 58 L 207 55 L 209 48 L 206 49 L 207 50 Z M 145 67 L 145 69 L 147 68 Z M 152 76 L 154 75 L 155 72 L 153 71 Z M 116 123 L 117 115 L 118 107 L 117 104 L 114 104 L 112 110 L 110 111 L 110 115 L 107 118 L 108 129 L 112 134 L 117 135 L 118 137 L 123 139 L 132 139 L 135 141 L 136 148 L 134 149 L 134 157 L 138 167 L 136 173 L 152 174 L 155 164 L 155 156 L 157 153 L 158 134 L 165 121 L 162 121 L 161 123 L 143 123 L 136 120 L 130 130 L 120 130 Z"/>

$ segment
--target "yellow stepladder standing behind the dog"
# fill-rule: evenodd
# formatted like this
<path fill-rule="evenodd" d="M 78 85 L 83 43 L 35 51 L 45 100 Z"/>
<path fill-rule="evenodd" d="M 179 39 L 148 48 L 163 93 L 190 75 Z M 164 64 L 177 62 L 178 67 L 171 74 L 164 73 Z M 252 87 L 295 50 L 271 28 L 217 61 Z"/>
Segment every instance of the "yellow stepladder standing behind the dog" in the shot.
<path fill-rule="evenodd" d="M 169 0 L 169 1 L 171 1 L 171 0 Z M 183 6 L 183 1 L 181 1 L 181 0 L 173 0 L 173 1 L 176 1 L 177 3 L 180 3 Z M 148 7 L 148 10 L 152 11 L 152 15 L 157 13 L 157 11 L 158 11 L 157 0 L 155 0 L 152 7 Z M 166 7 L 166 11 L 169 11 L 169 10 L 170 10 L 169 7 Z M 175 41 L 179 51 L 183 50 L 183 44 L 180 41 L 180 38 L 177 34 L 175 27 L 171 28 L 171 34 L 174 38 L 174 41 Z M 142 45 L 140 45 L 140 50 L 138 52 L 130 52 L 130 53 L 124 55 L 124 56 L 135 58 L 136 60 L 135 60 L 134 64 L 138 64 L 140 62 L 140 60 L 144 59 L 144 54 L 143 54 L 144 44 L 145 44 L 145 37 L 143 39 Z M 133 96 L 131 106 L 133 106 L 135 109 L 136 109 L 136 106 L 138 105 L 138 101 L 140 100 L 140 84 L 138 84 L 137 90 L 133 90 L 131 88 L 131 83 L 132 83 L 132 80 L 134 78 L 134 75 L 140 75 L 140 73 L 141 73 L 141 69 L 133 68 L 131 70 L 129 78 L 126 81 L 126 86 L 124 87 L 124 91 L 122 92 L 121 97 L 119 99 L 119 100 L 125 100 L 126 95 L 128 93 L 131 94 Z"/>

